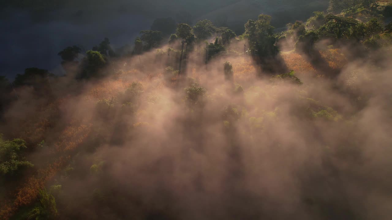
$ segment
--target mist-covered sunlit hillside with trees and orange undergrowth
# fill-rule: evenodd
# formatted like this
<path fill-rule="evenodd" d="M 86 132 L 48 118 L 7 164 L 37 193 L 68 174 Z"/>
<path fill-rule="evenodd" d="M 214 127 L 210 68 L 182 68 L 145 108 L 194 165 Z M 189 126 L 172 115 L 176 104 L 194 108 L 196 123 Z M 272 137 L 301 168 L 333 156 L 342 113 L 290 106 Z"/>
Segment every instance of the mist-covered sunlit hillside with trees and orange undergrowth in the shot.
<path fill-rule="evenodd" d="M 0 219 L 390 219 L 392 2 L 222 19 L 0 76 Z"/>

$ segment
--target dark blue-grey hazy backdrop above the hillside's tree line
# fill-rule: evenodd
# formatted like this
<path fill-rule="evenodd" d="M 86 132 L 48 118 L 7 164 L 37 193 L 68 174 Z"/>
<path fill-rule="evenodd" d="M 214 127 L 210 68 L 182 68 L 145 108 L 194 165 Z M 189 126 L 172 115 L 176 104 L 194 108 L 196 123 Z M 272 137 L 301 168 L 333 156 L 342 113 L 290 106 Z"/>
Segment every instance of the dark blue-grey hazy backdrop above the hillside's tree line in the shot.
<path fill-rule="evenodd" d="M 273 17 L 272 24 L 308 18 L 313 11 L 324 10 L 328 0 L 113 0 L 69 1 L 59 10 L 26 6 L 27 10 L 0 9 L 0 76 L 13 79 L 25 68 L 38 67 L 61 74 L 57 53 L 67 46 L 91 49 L 108 37 L 114 48 L 127 43 L 155 18 L 191 15 L 195 20 L 209 19 L 215 24 L 227 18 L 227 26 L 241 32 L 248 19 L 261 13 Z"/>

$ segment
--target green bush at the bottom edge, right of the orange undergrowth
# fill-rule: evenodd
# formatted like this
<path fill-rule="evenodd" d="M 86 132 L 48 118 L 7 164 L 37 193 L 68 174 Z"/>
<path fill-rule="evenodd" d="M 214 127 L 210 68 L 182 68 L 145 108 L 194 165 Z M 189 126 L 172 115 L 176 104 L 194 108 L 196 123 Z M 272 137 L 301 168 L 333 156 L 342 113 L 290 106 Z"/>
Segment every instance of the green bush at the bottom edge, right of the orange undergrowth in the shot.
<path fill-rule="evenodd" d="M 30 211 L 27 219 L 54 220 L 57 217 L 56 200 L 46 189 L 40 190 L 39 204 Z"/>

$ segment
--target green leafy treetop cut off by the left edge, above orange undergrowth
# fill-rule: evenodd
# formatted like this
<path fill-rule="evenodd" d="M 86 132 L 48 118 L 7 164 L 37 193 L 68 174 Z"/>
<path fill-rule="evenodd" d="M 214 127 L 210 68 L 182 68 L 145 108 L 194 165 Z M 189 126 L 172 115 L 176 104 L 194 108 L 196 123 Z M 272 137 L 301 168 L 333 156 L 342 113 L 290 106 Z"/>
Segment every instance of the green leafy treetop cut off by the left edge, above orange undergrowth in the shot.
<path fill-rule="evenodd" d="M 27 148 L 25 144 L 22 139 L 5 141 L 0 134 L 0 175 L 12 175 L 23 167 L 34 166 L 20 156 L 21 151 Z"/>

